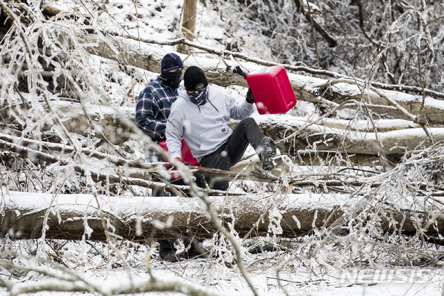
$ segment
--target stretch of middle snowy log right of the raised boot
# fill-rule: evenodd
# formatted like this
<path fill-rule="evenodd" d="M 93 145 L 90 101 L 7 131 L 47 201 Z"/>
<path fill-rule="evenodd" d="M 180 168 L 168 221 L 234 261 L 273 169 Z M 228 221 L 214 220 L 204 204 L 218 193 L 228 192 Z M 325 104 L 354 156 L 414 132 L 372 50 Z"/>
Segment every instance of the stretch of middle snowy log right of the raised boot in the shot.
<path fill-rule="evenodd" d="M 291 116 L 255 116 L 264 134 L 277 141 L 282 154 L 294 155 L 296 151 L 311 146 L 318 151 L 343 151 L 348 154 L 403 154 L 405 151 L 432 145 L 421 128 L 402 129 L 375 133 L 348 130 L 300 121 Z M 434 140 L 444 140 L 444 128 L 431 128 Z M 293 135 L 293 136 L 291 136 Z"/>

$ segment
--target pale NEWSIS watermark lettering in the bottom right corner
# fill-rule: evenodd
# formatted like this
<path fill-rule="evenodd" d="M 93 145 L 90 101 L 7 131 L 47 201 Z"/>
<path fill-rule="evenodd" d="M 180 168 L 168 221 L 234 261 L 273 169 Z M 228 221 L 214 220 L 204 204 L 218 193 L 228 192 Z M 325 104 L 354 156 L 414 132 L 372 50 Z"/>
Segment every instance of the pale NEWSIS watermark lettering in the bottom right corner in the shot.
<path fill-rule="evenodd" d="M 426 283 L 432 270 L 343 270 L 341 283 Z"/>

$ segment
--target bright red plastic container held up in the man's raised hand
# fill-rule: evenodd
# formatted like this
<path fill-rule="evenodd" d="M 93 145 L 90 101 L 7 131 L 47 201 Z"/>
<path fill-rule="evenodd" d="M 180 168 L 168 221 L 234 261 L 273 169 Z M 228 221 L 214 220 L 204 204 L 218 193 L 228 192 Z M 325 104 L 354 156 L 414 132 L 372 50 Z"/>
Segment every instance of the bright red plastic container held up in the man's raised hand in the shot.
<path fill-rule="evenodd" d="M 296 95 L 282 66 L 255 69 L 247 74 L 259 114 L 287 113 L 296 105 Z"/>

